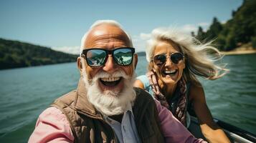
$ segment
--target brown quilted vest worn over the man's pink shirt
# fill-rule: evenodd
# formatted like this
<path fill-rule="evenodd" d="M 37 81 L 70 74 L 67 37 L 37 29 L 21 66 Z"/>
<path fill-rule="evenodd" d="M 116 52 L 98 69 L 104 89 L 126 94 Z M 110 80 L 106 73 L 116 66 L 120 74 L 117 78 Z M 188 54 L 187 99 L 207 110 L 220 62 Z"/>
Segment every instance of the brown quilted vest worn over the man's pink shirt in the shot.
<path fill-rule="evenodd" d="M 164 142 L 153 98 L 142 89 L 134 89 L 136 100 L 133 104 L 133 115 L 141 142 Z M 74 142 L 116 142 L 113 129 L 87 100 L 82 79 L 77 90 L 56 99 L 51 107 L 57 107 L 67 117 Z"/>

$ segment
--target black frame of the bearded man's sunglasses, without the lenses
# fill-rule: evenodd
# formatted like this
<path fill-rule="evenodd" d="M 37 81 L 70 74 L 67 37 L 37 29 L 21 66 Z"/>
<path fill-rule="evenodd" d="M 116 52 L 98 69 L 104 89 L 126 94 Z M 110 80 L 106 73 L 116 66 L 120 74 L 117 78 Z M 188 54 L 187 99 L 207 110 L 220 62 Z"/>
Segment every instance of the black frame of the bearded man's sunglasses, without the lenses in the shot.
<path fill-rule="evenodd" d="M 114 52 L 118 49 L 131 49 L 131 52 L 132 54 L 134 55 L 135 53 L 135 49 L 133 47 L 120 47 L 120 48 L 116 48 L 116 49 L 112 49 L 112 50 L 108 50 L 108 49 L 101 49 L 101 48 L 90 48 L 90 49 L 83 49 L 82 50 L 82 53 L 81 53 L 81 56 L 83 58 L 85 58 L 85 61 L 87 63 L 88 66 L 90 66 L 90 64 L 88 63 L 87 61 L 87 51 L 90 51 L 90 50 L 93 50 L 93 49 L 100 49 L 100 50 L 103 50 L 105 51 L 106 53 L 106 57 L 105 57 L 105 60 L 103 61 L 103 64 L 101 66 L 104 66 L 105 63 L 108 61 L 108 55 L 111 54 L 113 56 L 113 59 L 115 61 L 115 64 L 118 64 L 118 61 L 115 60 L 115 57 L 114 57 Z M 131 63 L 130 64 L 127 64 L 127 65 L 120 65 L 118 64 L 119 66 L 130 66 L 131 64 L 133 63 L 133 56 L 131 57 Z M 98 68 L 98 67 L 101 67 L 101 66 L 90 66 L 92 68 Z"/>

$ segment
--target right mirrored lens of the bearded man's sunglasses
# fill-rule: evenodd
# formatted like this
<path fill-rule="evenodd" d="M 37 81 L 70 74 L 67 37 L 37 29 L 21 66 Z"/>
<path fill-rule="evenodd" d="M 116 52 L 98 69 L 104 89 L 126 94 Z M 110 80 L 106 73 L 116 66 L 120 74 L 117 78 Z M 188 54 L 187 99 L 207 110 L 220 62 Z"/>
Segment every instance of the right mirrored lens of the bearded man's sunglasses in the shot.
<path fill-rule="evenodd" d="M 113 53 L 115 62 L 121 66 L 127 66 L 133 61 L 131 49 L 117 49 Z"/>

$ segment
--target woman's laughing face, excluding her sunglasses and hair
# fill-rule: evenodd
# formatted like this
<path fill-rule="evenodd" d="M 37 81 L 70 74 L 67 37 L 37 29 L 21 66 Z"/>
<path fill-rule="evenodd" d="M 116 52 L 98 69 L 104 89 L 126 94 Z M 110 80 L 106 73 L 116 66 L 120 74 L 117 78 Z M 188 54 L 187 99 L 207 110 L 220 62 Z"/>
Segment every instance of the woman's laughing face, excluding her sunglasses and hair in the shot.
<path fill-rule="evenodd" d="M 180 51 L 178 45 L 174 42 L 158 41 L 158 44 L 156 44 L 153 51 L 153 56 L 158 54 L 171 56 L 171 54 L 176 52 Z M 183 69 L 185 68 L 184 60 L 185 59 L 179 61 L 178 64 L 174 64 L 170 57 L 167 57 L 166 62 L 163 65 L 159 66 L 153 64 L 153 69 L 157 71 L 156 73 L 158 74 L 158 79 L 160 79 L 163 84 L 174 85 L 182 77 Z"/>

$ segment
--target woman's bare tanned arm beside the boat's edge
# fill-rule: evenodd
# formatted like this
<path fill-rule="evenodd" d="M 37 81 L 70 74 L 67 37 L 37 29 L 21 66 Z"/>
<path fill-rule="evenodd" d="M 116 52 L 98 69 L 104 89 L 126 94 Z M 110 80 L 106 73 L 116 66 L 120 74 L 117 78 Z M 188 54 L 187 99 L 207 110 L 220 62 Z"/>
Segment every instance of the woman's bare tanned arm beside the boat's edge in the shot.
<path fill-rule="evenodd" d="M 212 114 L 207 107 L 202 85 L 191 85 L 190 98 L 194 104 L 194 112 L 208 142 L 230 142 L 223 130 L 214 122 Z"/>

